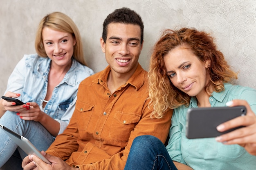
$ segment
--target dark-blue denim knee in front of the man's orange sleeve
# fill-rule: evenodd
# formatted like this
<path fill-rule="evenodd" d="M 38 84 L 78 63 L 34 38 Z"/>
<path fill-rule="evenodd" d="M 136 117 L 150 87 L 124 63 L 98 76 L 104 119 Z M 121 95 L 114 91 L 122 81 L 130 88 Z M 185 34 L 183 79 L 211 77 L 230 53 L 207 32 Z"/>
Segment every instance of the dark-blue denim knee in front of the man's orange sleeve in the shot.
<path fill-rule="evenodd" d="M 124 170 L 177 170 L 164 144 L 154 136 L 136 137 Z"/>

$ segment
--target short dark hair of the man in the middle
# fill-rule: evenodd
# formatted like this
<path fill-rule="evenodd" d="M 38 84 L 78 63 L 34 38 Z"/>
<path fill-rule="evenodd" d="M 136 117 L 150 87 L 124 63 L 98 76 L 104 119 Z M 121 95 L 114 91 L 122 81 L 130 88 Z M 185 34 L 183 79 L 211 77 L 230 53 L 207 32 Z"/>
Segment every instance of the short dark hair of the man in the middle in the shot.
<path fill-rule="evenodd" d="M 122 24 L 134 24 L 139 25 L 140 27 L 140 44 L 143 42 L 143 31 L 144 31 L 144 24 L 141 20 L 139 14 L 135 11 L 123 7 L 120 9 L 116 9 L 114 12 L 110 13 L 103 22 L 103 32 L 102 38 L 103 41 L 106 43 L 107 34 L 108 34 L 108 24 L 110 23 L 122 23 Z"/>

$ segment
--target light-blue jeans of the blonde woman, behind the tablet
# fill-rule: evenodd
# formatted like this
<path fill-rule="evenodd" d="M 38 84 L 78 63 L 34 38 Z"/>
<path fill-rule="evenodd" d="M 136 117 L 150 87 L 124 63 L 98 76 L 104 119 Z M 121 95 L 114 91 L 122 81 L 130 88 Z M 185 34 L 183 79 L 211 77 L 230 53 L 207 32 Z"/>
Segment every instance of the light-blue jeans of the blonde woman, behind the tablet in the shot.
<path fill-rule="evenodd" d="M 55 139 L 42 124 L 35 121 L 22 120 L 15 112 L 6 111 L 0 118 L 0 124 L 29 139 L 39 151 L 47 150 Z M 27 154 L 0 129 L 0 167 L 2 167 L 4 163 L 7 163 L 16 149 L 18 149 L 21 159 L 27 156 Z M 9 162 L 10 161 L 8 161 L 8 163 Z M 14 166 L 15 163 L 16 162 L 11 162 L 11 166 Z M 20 163 L 17 164 L 17 166 L 21 166 Z"/>

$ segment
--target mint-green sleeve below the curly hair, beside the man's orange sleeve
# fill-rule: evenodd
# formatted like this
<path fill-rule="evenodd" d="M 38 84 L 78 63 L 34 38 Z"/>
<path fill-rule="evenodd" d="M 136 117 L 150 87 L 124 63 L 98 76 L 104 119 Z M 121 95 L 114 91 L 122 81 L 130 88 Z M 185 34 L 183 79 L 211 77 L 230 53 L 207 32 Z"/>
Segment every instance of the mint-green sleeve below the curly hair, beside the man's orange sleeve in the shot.
<path fill-rule="evenodd" d="M 180 114 L 182 114 L 179 110 L 174 109 L 173 117 L 172 117 L 172 125 L 170 128 L 170 139 L 166 149 L 173 161 L 177 161 L 186 165 L 181 153 L 181 134 L 182 134 L 182 126 L 179 124 L 180 122 Z"/>

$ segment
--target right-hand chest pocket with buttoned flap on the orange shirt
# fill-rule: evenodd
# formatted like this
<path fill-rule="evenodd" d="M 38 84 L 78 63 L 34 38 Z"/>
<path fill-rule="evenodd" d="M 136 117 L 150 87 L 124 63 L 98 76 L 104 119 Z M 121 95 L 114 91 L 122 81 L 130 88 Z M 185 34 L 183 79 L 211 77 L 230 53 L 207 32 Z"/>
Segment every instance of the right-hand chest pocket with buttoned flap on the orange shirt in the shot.
<path fill-rule="evenodd" d="M 136 113 L 117 111 L 110 126 L 110 138 L 117 142 L 127 142 L 139 120 L 140 115 Z"/>

